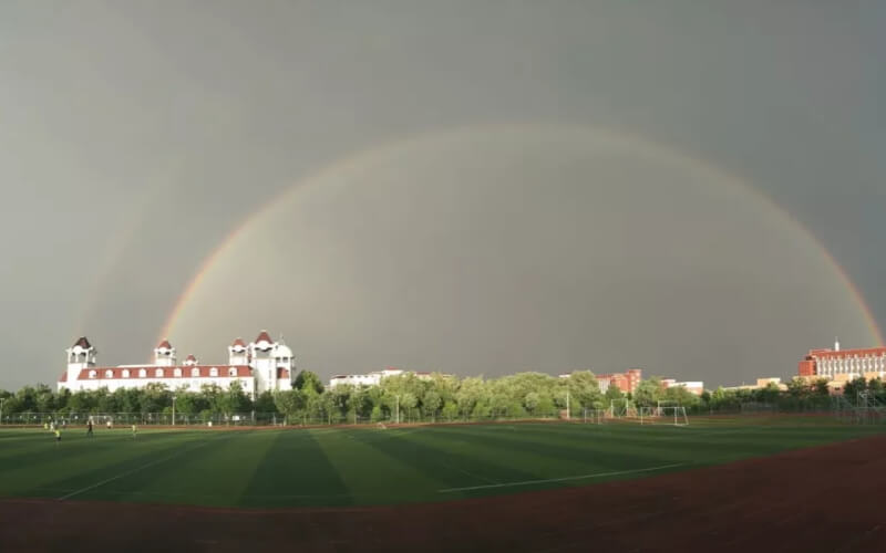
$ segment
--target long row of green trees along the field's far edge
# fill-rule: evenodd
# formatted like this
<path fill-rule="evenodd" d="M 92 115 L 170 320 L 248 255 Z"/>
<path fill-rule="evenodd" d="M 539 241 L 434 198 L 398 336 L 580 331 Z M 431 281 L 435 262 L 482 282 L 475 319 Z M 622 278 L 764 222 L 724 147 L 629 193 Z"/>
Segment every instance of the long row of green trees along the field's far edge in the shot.
<path fill-rule="evenodd" d="M 870 390 L 872 397 L 886 403 L 886 389 L 879 379 L 864 378 L 845 385 L 845 396 Z M 627 401 L 626 401 L 627 400 Z M 16 393 L 0 390 L 3 416 L 40 413 L 66 414 L 164 414 L 173 404 L 177 417 L 189 420 L 256 414 L 261 420 L 287 424 L 341 424 L 360 421 L 439 421 L 486 420 L 497 418 L 555 418 L 569 410 L 580 418 L 589 410 L 607 410 L 612 405 L 655 407 L 659 401 L 687 407 L 688 413 L 734 413 L 743 406 L 763 405 L 777 410 L 815 410 L 831 405 L 825 380 L 799 378 L 781 390 L 774 384 L 759 389 L 718 388 L 700 396 L 686 388 L 664 388 L 658 377 L 640 382 L 632 394 L 616 386 L 600 390 L 590 371 L 577 371 L 567 378 L 543 373 L 517 373 L 498 378 L 459 378 L 432 374 L 420 378 L 413 373 L 390 376 L 378 386 L 339 385 L 324 388 L 320 378 L 302 371 L 293 389 L 260 394 L 255 399 L 238 383 L 229 388 L 204 385 L 199 390 L 169 389 L 162 384 L 143 388 L 109 392 L 68 389 L 54 392 L 47 385 L 25 386 Z"/>

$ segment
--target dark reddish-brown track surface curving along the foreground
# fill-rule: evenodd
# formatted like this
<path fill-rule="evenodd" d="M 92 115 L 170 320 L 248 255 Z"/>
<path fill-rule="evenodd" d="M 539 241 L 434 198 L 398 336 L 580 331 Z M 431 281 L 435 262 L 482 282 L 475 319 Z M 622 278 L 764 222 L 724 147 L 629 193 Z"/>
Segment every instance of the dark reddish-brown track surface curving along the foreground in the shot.
<path fill-rule="evenodd" d="M 885 503 L 878 436 L 640 480 L 390 508 L 0 500 L 0 549 L 878 552 Z"/>

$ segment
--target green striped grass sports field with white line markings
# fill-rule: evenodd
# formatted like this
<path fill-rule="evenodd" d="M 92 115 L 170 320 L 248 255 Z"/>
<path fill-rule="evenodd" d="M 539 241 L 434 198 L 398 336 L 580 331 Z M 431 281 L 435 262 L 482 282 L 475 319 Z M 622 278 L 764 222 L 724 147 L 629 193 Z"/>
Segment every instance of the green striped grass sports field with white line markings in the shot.
<path fill-rule="evenodd" d="M 868 436 L 813 417 L 247 431 L 0 430 L 0 495 L 219 507 L 441 501 L 691 470 Z"/>

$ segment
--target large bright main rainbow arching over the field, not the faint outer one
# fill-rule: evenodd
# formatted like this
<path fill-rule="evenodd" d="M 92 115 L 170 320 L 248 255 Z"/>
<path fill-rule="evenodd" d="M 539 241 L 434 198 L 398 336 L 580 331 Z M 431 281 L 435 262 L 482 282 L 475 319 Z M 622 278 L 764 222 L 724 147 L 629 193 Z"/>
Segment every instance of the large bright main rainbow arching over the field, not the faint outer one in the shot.
<path fill-rule="evenodd" d="M 445 135 L 460 135 L 462 133 L 471 132 L 471 131 L 490 131 L 490 129 L 501 129 L 501 131 L 527 131 L 527 129 L 539 129 L 539 128 L 554 128 L 557 131 L 565 131 L 565 132 L 579 132 L 579 133 L 590 133 L 595 138 L 604 138 L 609 143 L 621 144 L 626 145 L 631 148 L 636 148 L 643 154 L 658 156 L 671 161 L 687 164 L 696 169 L 704 171 L 711 175 L 713 180 L 723 182 L 727 186 L 733 186 L 740 188 L 742 191 L 749 194 L 750 196 L 754 197 L 760 201 L 766 209 L 771 210 L 772 212 L 776 213 L 780 218 L 787 221 L 791 227 L 793 227 L 800 234 L 804 236 L 812 243 L 815 248 L 821 252 L 824 257 L 825 261 L 834 269 L 838 278 L 845 283 L 846 288 L 851 292 L 854 300 L 857 302 L 858 306 L 862 310 L 862 313 L 865 316 L 866 324 L 870 330 L 872 335 L 878 342 L 876 345 L 883 346 L 883 332 L 880 331 L 879 326 L 876 323 L 873 312 L 870 307 L 867 305 L 862 292 L 858 290 L 858 286 L 852 281 L 849 275 L 836 262 L 834 257 L 831 252 L 824 247 L 824 244 L 815 237 L 815 234 L 805 227 L 802 222 L 800 222 L 796 218 L 794 218 L 790 212 L 787 212 L 784 208 L 779 206 L 772 198 L 766 196 L 762 190 L 751 186 L 750 184 L 743 181 L 739 177 L 731 175 L 729 173 L 723 171 L 717 166 L 709 164 L 702 159 L 692 157 L 687 155 L 682 152 L 677 152 L 670 149 L 666 146 L 662 146 L 658 143 L 651 142 L 647 138 L 639 137 L 624 131 L 616 131 L 610 128 L 600 128 L 600 127 L 588 127 L 588 126 L 578 126 L 578 125 L 564 125 L 564 124 L 525 124 L 525 123 L 506 123 L 506 124 L 495 124 L 495 125 L 483 125 L 481 127 L 477 126 L 467 126 L 467 127 L 457 127 L 454 129 L 449 129 L 445 132 L 435 132 L 435 133 L 420 133 L 415 135 L 411 135 L 403 139 L 391 140 L 380 146 L 369 148 L 365 150 L 358 152 L 351 156 L 344 157 L 339 159 L 338 161 L 324 166 L 320 168 L 318 171 L 307 176 L 306 178 L 297 181 L 291 187 L 284 190 L 280 195 L 272 198 L 270 201 L 265 204 L 264 206 L 259 207 L 256 211 L 254 211 L 250 216 L 248 216 L 240 226 L 235 228 L 231 232 L 229 232 L 224 240 L 222 240 L 218 246 L 207 255 L 203 263 L 199 265 L 197 272 L 190 279 L 188 284 L 185 286 L 182 294 L 175 302 L 175 306 L 173 307 L 169 316 L 167 317 L 166 322 L 161 330 L 159 335 L 157 336 L 157 341 L 165 338 L 166 336 L 172 334 L 172 330 L 175 326 L 176 321 L 178 320 L 182 311 L 184 310 L 185 305 L 188 303 L 188 300 L 194 294 L 194 292 L 203 283 L 204 278 L 216 263 L 216 261 L 222 257 L 222 254 L 227 250 L 227 248 L 236 241 L 236 239 L 243 234 L 246 229 L 248 229 L 255 221 L 262 218 L 274 205 L 276 205 L 279 200 L 288 197 L 290 194 L 297 194 L 300 190 L 306 189 L 310 186 L 316 186 L 318 182 L 322 181 L 328 177 L 336 176 L 338 174 L 346 173 L 349 169 L 352 169 L 356 166 L 360 166 L 362 164 L 369 163 L 372 159 L 383 155 L 384 153 L 389 153 L 392 149 L 404 147 L 415 140 L 420 140 L 426 137 L 436 137 L 436 136 L 445 136 Z"/>

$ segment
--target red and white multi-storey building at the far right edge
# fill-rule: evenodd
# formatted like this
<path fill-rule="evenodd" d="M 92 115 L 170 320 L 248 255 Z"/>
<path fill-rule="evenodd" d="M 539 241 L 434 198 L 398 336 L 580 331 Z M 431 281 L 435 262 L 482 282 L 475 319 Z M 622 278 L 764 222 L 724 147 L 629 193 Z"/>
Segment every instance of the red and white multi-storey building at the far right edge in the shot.
<path fill-rule="evenodd" d="M 833 349 L 810 349 L 797 364 L 797 375 L 828 380 L 851 380 L 886 377 L 886 347 L 841 349 L 839 341 Z"/>

